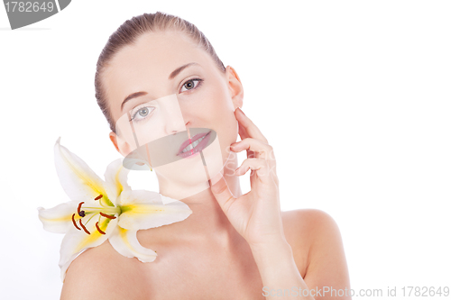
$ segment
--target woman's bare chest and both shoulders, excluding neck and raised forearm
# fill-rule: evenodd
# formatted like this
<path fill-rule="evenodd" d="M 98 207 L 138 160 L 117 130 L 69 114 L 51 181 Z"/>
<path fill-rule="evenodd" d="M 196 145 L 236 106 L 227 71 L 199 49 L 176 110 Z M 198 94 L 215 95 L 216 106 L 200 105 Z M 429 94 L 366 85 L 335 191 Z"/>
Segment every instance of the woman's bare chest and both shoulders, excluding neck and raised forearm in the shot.
<path fill-rule="evenodd" d="M 330 216 L 309 209 L 281 214 L 308 288 L 349 289 L 341 237 Z M 138 232 L 143 246 L 159 254 L 152 263 L 125 258 L 108 241 L 80 254 L 70 265 L 61 299 L 265 299 L 252 252 L 239 234 L 221 244 L 207 238 L 173 241 L 169 234 L 160 241 L 154 238 L 157 230 Z"/>

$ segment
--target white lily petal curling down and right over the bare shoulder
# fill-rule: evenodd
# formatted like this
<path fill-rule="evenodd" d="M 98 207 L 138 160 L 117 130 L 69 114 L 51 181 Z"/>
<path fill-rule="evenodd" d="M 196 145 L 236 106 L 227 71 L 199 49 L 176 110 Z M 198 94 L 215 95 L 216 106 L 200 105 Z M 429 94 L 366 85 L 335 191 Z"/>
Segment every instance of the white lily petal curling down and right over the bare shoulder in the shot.
<path fill-rule="evenodd" d="M 115 227 L 108 241 L 111 246 L 127 258 L 134 258 L 151 262 L 157 258 L 157 253 L 151 249 L 144 248 L 136 238 L 137 231 L 129 231 L 120 226 Z"/>

